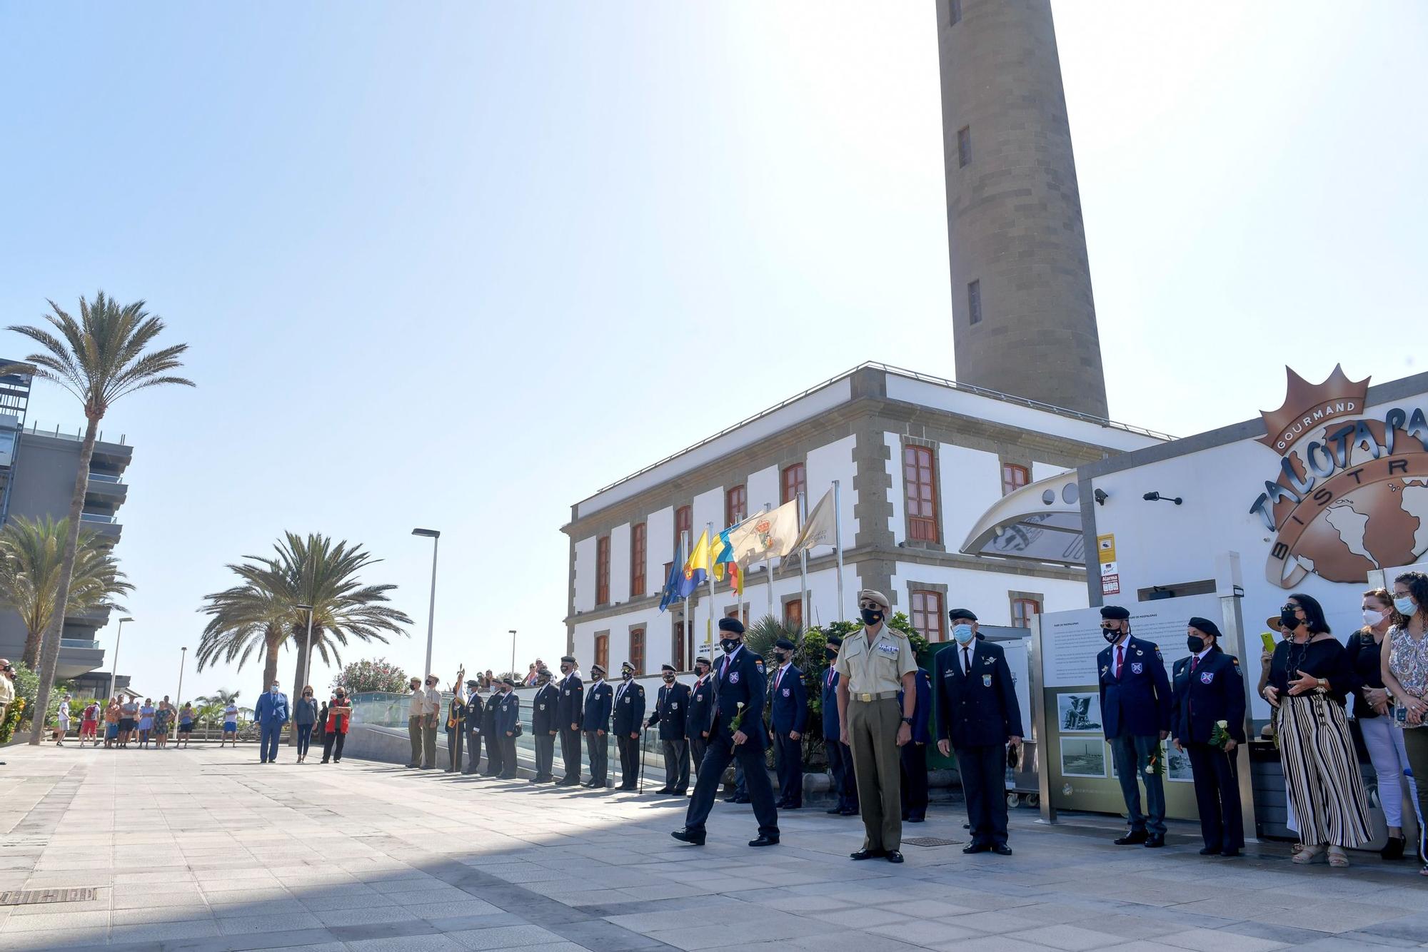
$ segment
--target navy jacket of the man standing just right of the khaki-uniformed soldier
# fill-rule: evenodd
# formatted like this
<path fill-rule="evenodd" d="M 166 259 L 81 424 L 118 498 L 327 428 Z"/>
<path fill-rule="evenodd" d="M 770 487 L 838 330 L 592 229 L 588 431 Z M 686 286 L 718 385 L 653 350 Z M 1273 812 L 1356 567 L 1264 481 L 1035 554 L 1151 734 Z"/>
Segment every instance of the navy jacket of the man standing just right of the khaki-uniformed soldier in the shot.
<path fill-rule="evenodd" d="M 937 682 L 937 739 L 952 746 L 1001 746 L 1021 736 L 1021 708 L 1007 655 L 978 637 L 972 641 L 971 675 L 962 674 L 962 647 L 952 642 L 932 659 Z"/>

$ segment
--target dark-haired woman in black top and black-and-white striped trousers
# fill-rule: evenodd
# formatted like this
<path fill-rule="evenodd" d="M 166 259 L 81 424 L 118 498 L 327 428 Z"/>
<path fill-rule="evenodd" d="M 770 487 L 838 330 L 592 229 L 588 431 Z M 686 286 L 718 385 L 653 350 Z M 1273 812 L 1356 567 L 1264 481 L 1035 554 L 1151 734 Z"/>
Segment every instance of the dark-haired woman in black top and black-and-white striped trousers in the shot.
<path fill-rule="evenodd" d="M 1348 732 L 1345 699 L 1357 685 L 1348 652 L 1319 602 L 1295 592 L 1279 611 L 1289 638 L 1274 648 L 1264 699 L 1275 709 L 1279 762 L 1304 849 L 1294 862 L 1347 866 L 1345 849 L 1372 839 L 1368 796 Z"/>

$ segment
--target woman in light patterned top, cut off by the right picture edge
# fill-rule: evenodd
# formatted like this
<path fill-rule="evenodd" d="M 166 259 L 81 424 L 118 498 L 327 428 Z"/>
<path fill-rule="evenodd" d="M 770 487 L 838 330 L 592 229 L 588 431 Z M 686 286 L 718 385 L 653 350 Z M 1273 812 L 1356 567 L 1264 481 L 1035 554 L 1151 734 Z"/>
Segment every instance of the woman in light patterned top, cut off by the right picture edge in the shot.
<path fill-rule="evenodd" d="M 1428 575 L 1404 572 L 1394 579 L 1394 627 L 1384 639 L 1379 674 L 1394 697 L 1408 765 L 1414 768 L 1418 815 L 1428 814 Z M 1428 831 L 1418 825 L 1418 856 L 1428 858 Z M 1419 871 L 1428 876 L 1428 864 Z"/>

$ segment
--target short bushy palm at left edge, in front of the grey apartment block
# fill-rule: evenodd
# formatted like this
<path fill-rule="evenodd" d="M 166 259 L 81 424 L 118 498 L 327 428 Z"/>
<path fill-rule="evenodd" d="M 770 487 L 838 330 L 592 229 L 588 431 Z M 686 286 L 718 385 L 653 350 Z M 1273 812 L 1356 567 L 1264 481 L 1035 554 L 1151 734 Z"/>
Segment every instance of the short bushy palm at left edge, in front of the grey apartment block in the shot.
<path fill-rule="evenodd" d="M 24 622 L 24 665 L 34 669 L 40 659 L 40 639 L 54 614 L 54 594 L 60 582 L 60 547 L 69 534 L 64 520 L 49 515 L 30 521 L 16 517 L 0 530 L 0 604 L 20 614 Z M 70 579 L 70 604 L 66 615 L 110 608 L 129 611 L 114 601 L 134 587 L 124 581 L 109 545 L 94 532 L 80 532 Z"/>

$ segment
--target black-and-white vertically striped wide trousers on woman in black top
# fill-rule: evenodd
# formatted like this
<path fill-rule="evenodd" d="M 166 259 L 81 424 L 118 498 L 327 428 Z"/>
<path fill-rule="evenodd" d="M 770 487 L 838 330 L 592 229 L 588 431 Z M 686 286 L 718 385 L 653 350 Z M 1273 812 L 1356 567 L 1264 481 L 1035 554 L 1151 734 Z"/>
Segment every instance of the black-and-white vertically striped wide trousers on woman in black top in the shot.
<path fill-rule="evenodd" d="M 1281 695 L 1278 728 L 1299 842 L 1349 849 L 1368 844 L 1368 796 L 1344 705 L 1318 691 Z"/>

